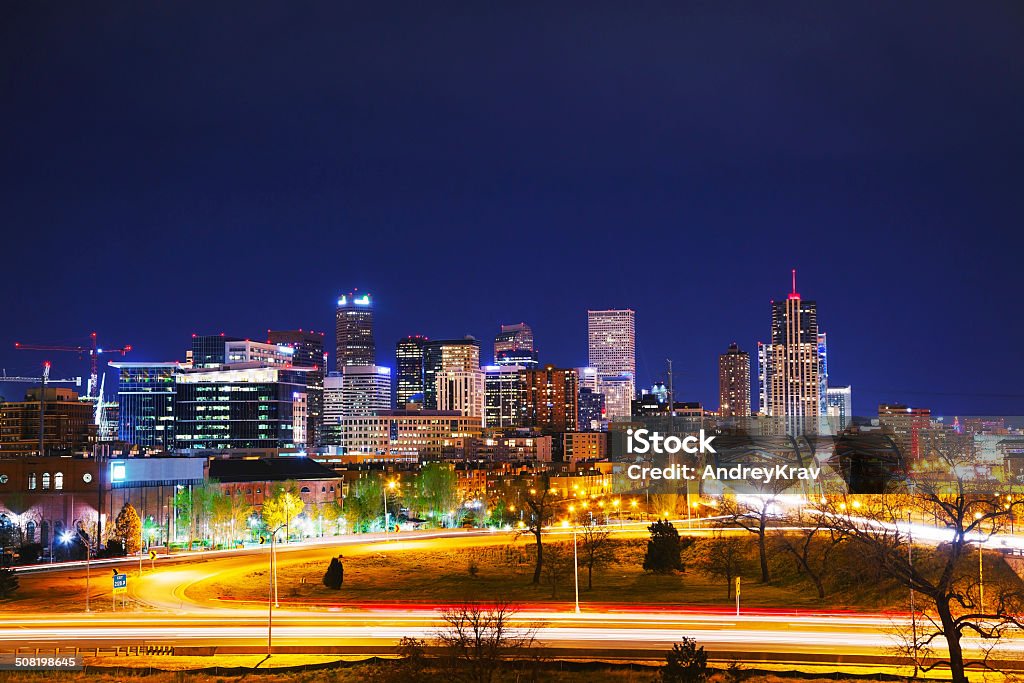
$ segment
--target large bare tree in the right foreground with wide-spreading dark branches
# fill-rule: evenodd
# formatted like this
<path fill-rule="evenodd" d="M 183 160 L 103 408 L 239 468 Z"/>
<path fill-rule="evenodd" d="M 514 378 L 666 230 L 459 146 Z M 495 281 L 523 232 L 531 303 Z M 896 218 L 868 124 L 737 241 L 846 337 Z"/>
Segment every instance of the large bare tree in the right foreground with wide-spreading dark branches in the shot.
<path fill-rule="evenodd" d="M 928 606 L 921 616 L 914 615 L 910 645 L 920 652 L 944 641 L 947 658 L 922 669 L 948 666 L 953 683 L 966 683 L 965 635 L 994 644 L 1009 629 L 1024 627 L 1020 583 L 989 579 L 983 588 L 974 559 L 980 551 L 973 550 L 974 544 L 997 533 L 1024 501 L 973 490 L 955 474 L 965 471 L 958 468 L 967 460 L 958 454 L 938 456 L 950 473 L 941 484 L 918 483 L 904 495 L 839 496 L 823 503 L 821 512 L 827 526 L 853 544 L 883 575 L 926 598 Z M 914 545 L 911 554 L 906 523 L 914 517 L 934 520 L 946 529 L 946 539 L 936 546 Z"/>

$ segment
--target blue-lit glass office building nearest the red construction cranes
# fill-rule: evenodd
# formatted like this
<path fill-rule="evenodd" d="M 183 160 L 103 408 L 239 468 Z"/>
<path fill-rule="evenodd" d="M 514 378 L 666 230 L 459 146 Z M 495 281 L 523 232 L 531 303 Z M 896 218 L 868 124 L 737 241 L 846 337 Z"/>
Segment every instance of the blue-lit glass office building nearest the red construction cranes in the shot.
<path fill-rule="evenodd" d="M 221 344 L 223 347 L 223 344 Z M 111 362 L 118 370 L 118 438 L 142 451 L 174 447 L 178 362 Z"/>

